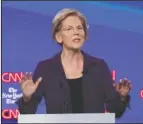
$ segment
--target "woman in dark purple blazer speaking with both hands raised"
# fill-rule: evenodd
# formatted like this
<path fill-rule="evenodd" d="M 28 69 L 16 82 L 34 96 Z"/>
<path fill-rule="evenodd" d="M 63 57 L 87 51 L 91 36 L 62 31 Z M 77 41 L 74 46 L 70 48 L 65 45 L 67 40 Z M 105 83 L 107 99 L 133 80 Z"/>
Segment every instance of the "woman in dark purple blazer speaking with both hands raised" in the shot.
<path fill-rule="evenodd" d="M 103 113 L 121 117 L 129 103 L 130 81 L 114 84 L 104 60 L 81 50 L 87 39 L 85 17 L 74 9 L 63 9 L 53 19 L 53 38 L 62 51 L 41 61 L 21 81 L 20 113 L 36 112 L 42 97 L 47 113 Z"/>

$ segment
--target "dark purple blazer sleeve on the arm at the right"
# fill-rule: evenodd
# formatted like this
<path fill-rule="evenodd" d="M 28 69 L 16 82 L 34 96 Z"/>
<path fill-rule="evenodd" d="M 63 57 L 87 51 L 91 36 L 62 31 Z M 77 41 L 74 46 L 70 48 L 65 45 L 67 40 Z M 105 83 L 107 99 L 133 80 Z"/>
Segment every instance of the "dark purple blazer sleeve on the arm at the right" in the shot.
<path fill-rule="evenodd" d="M 103 87 L 104 87 L 104 96 L 105 96 L 105 103 L 106 109 L 110 113 L 115 113 L 116 118 L 120 118 L 126 110 L 129 101 L 121 101 L 121 97 L 119 93 L 116 92 L 115 88 L 113 87 L 113 80 L 111 72 L 108 68 L 107 63 L 102 60 L 102 80 L 103 80 Z M 129 96 L 127 96 L 129 97 Z"/>

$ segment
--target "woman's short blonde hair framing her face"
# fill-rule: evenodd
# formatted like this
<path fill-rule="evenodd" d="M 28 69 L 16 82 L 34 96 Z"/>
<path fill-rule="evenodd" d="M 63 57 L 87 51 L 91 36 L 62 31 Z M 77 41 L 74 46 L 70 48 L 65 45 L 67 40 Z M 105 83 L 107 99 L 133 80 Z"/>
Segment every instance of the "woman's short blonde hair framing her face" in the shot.
<path fill-rule="evenodd" d="M 87 22 L 86 22 L 86 18 L 85 16 L 80 13 L 79 11 L 75 10 L 75 9 L 63 9 L 60 12 L 57 13 L 57 15 L 54 17 L 53 21 L 52 21 L 52 28 L 53 28 L 53 39 L 56 40 L 56 33 L 59 32 L 62 22 L 64 19 L 66 19 L 68 16 L 71 15 L 75 15 L 78 16 L 82 22 L 83 28 L 84 28 L 84 32 L 85 32 L 85 39 L 87 38 Z"/>

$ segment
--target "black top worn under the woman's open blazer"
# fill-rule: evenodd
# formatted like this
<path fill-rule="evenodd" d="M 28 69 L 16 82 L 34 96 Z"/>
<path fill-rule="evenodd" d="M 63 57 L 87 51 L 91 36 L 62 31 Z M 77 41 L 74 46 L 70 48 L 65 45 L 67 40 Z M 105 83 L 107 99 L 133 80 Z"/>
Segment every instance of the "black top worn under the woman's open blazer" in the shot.
<path fill-rule="evenodd" d="M 68 79 L 72 113 L 83 113 L 82 78 Z"/>

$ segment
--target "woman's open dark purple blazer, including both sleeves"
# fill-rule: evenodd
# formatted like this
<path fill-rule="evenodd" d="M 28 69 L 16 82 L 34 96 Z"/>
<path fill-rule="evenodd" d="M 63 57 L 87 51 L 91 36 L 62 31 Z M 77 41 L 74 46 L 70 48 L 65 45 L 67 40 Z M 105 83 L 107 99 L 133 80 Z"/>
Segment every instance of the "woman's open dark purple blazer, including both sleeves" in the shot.
<path fill-rule="evenodd" d="M 103 59 L 95 58 L 82 51 L 83 68 L 83 101 L 84 113 L 108 112 L 121 117 L 127 102 L 122 102 L 113 87 L 111 72 Z M 39 62 L 33 80 L 42 77 L 42 82 L 28 103 L 23 98 L 16 103 L 21 114 L 36 112 L 42 97 L 45 99 L 47 113 L 72 113 L 69 85 L 61 63 L 61 52 L 53 58 Z"/>

